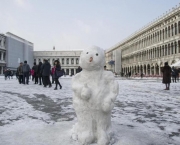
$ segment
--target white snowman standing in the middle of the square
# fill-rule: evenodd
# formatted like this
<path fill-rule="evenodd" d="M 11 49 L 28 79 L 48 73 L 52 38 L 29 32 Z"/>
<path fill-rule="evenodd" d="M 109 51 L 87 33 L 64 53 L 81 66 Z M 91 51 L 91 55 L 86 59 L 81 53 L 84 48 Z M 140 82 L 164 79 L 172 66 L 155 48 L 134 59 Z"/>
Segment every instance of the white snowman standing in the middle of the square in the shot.
<path fill-rule="evenodd" d="M 93 46 L 80 56 L 82 71 L 72 79 L 73 107 L 77 123 L 72 138 L 83 145 L 97 142 L 108 145 L 111 138 L 111 110 L 119 85 L 110 71 L 104 70 L 104 50 Z"/>

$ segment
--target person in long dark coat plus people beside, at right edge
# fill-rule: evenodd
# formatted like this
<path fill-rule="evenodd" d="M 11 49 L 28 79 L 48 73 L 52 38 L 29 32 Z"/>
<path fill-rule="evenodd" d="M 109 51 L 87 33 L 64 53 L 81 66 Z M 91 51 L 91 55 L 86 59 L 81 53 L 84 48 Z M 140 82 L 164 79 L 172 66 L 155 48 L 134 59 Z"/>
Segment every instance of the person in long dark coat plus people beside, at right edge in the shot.
<path fill-rule="evenodd" d="M 171 77 L 172 81 L 176 83 L 179 81 L 179 70 L 175 67 L 171 67 L 168 65 L 168 62 L 165 62 L 164 67 L 162 69 L 163 80 L 162 82 L 166 85 L 165 90 L 170 90 Z"/>

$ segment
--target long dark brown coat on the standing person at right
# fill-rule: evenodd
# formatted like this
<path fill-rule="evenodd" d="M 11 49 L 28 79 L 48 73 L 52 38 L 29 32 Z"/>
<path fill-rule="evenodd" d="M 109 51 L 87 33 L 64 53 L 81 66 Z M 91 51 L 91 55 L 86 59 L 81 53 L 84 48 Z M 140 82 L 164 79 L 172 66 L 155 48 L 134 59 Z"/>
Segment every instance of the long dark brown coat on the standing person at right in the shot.
<path fill-rule="evenodd" d="M 171 83 L 171 67 L 170 66 L 164 66 L 162 69 L 163 72 L 163 81 L 162 83 L 164 84 L 169 84 Z"/>

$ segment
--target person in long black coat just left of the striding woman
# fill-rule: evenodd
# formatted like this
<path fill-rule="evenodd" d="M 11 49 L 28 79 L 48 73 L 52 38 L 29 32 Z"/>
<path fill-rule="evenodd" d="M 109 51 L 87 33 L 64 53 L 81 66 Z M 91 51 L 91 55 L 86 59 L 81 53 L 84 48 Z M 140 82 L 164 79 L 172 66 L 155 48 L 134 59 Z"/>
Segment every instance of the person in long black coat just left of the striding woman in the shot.
<path fill-rule="evenodd" d="M 52 87 L 50 81 L 50 73 L 51 73 L 51 65 L 48 62 L 48 60 L 44 59 L 44 64 L 42 65 L 42 76 L 43 76 L 44 87 L 46 87 L 47 85 L 49 85 L 49 87 Z"/>

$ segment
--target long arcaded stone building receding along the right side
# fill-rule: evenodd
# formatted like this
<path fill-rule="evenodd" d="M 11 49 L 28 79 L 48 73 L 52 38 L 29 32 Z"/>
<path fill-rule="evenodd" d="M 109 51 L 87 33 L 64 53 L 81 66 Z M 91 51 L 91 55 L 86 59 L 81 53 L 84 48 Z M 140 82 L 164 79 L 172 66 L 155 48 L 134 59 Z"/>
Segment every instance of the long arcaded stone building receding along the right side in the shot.
<path fill-rule="evenodd" d="M 120 51 L 120 55 L 117 54 Z M 121 62 L 117 62 L 117 57 Z M 106 51 L 107 69 L 127 74 L 161 75 L 165 62 L 169 65 L 180 60 L 180 7 Z"/>

